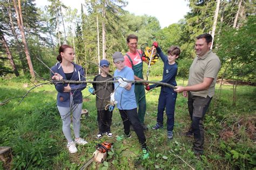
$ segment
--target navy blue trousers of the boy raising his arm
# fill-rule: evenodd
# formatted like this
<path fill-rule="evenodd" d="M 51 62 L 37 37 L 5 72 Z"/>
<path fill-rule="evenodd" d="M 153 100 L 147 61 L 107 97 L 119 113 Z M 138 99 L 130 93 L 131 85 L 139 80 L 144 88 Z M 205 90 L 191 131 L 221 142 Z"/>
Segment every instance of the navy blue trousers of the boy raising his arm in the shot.
<path fill-rule="evenodd" d="M 176 92 L 160 92 L 158 99 L 158 112 L 157 112 L 157 123 L 163 125 L 164 122 L 164 110 L 167 116 L 167 131 L 173 131 L 174 126 L 174 110 L 176 103 L 177 93 Z"/>

